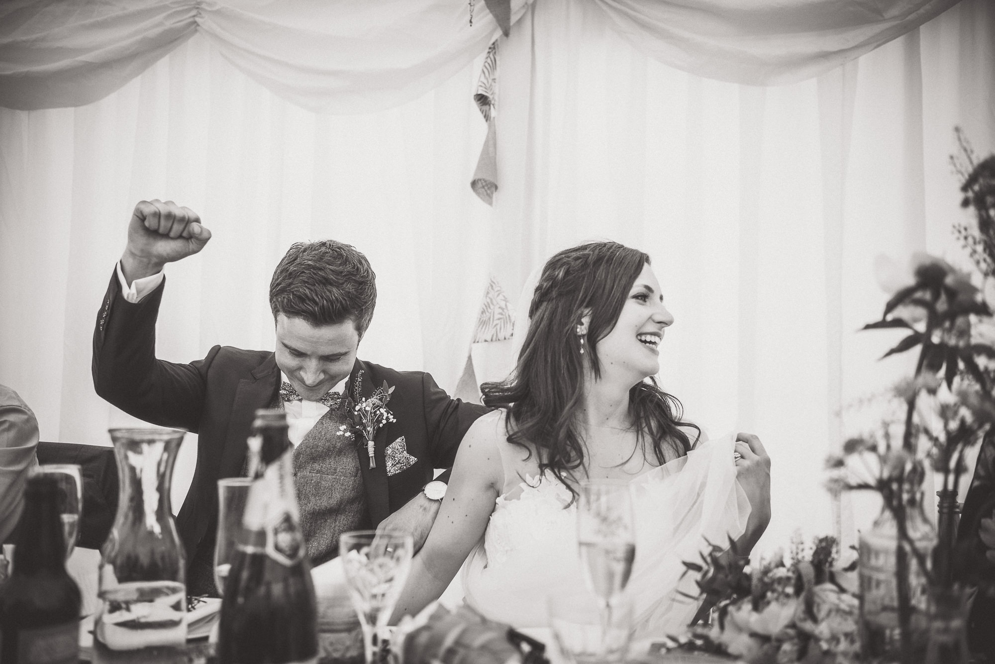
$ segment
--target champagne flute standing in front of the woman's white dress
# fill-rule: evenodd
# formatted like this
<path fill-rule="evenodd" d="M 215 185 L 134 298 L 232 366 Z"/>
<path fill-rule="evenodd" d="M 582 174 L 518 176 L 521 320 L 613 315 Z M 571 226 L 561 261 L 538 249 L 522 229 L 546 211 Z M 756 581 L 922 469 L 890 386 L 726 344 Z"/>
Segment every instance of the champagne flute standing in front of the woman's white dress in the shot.
<path fill-rule="evenodd" d="M 588 587 L 601 604 L 603 634 L 636 559 L 632 495 L 624 480 L 586 480 L 577 498 L 577 543 Z"/>

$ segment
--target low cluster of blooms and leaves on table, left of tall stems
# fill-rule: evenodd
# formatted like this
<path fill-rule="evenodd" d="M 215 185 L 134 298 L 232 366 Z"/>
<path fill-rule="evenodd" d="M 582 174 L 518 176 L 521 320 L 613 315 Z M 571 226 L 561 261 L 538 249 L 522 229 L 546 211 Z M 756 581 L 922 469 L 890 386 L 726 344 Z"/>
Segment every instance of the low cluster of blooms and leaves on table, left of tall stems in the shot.
<path fill-rule="evenodd" d="M 728 654 L 749 664 L 849 664 L 858 661 L 858 599 L 853 568 L 836 567 L 836 539 L 805 547 L 796 535 L 790 555 L 749 571 L 712 546 L 701 563 L 685 563 L 697 581 L 710 625 L 679 641 L 683 650 Z"/>

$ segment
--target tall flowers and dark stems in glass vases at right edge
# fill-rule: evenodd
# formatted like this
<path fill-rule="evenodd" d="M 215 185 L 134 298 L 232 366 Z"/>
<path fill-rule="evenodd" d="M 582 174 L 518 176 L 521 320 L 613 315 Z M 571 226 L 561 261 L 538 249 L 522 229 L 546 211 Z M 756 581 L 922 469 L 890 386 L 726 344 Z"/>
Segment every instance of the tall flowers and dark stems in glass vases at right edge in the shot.
<path fill-rule="evenodd" d="M 935 610 L 930 606 L 957 603 L 950 598 L 959 593 L 953 567 L 956 498 L 964 456 L 971 446 L 995 435 L 995 156 L 979 162 L 959 129 L 956 135 L 961 154 L 951 161 L 962 181 L 961 205 L 973 208 L 977 223 L 956 225 L 954 233 L 976 272 L 924 253 L 912 256 L 907 280 L 893 289 L 882 318 L 864 327 L 905 333 L 883 359 L 918 351 L 912 376 L 891 395 L 892 402 L 900 405 L 900 415 L 886 418 L 879 432 L 847 440 L 843 454 L 827 460 L 829 488 L 877 492 L 885 511 L 875 530 L 886 518 L 886 525 L 894 527 L 896 541 L 889 565 L 895 598 L 886 604 L 896 604 L 897 656 L 902 662 L 913 661 L 916 649 L 924 647 L 928 624 L 937 618 L 925 615 Z M 879 258 L 880 272 L 889 267 L 887 259 Z M 892 282 L 895 285 L 895 279 Z M 920 517 L 921 484 L 927 468 L 942 478 L 935 537 L 925 534 L 931 526 Z M 867 556 L 877 554 L 869 550 Z M 868 568 L 868 582 L 880 588 L 880 580 L 872 580 L 875 574 Z M 923 581 L 921 588 L 919 581 Z M 865 604 L 866 612 L 891 610 L 875 602 Z M 865 654 L 884 653 L 866 649 Z"/>

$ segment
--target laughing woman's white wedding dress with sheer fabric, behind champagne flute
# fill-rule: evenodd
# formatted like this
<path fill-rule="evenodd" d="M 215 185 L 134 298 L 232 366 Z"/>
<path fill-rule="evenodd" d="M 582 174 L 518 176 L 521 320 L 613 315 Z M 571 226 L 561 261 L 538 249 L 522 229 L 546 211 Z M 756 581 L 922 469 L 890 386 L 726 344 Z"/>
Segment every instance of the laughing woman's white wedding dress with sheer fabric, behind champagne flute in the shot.
<path fill-rule="evenodd" d="M 708 542 L 724 547 L 743 533 L 749 501 L 736 482 L 733 451 L 731 435 L 709 440 L 632 480 L 636 560 L 626 592 L 637 637 L 682 633 L 698 604 L 680 594 L 697 595 L 696 575 L 686 575 L 683 562 L 699 563 Z M 526 475 L 520 489 L 499 496 L 464 566 L 465 601 L 514 627 L 547 626 L 546 597 L 584 583 L 569 501 L 549 472 Z"/>

